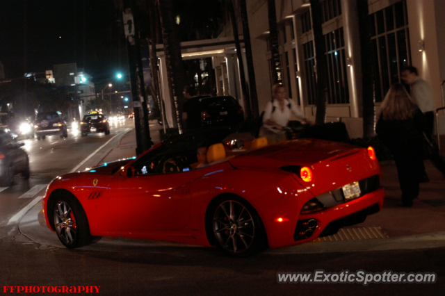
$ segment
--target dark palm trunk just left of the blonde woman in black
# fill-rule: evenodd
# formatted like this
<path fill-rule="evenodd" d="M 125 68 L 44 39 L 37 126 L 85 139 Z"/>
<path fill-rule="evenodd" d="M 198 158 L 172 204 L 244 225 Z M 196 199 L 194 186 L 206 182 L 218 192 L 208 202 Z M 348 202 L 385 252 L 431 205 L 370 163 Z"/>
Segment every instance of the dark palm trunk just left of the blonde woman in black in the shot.
<path fill-rule="evenodd" d="M 363 138 L 372 138 L 375 126 L 374 63 L 368 3 L 356 0 L 359 17 L 360 54 L 362 60 Z"/>

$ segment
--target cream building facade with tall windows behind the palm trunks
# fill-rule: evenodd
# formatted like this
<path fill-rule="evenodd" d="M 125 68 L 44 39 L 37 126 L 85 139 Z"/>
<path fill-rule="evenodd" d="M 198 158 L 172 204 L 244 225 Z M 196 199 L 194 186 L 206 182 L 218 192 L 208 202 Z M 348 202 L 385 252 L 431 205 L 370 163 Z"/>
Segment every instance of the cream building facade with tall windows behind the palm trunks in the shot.
<path fill-rule="evenodd" d="M 250 41 L 260 113 L 271 99 L 271 63 L 268 1 L 247 2 Z M 357 0 L 321 0 L 323 35 L 327 61 L 327 121 L 345 122 L 351 138 L 362 137 L 361 49 Z M 433 93 L 435 108 L 444 106 L 442 81 L 445 79 L 445 1 L 368 0 L 371 44 L 375 61 L 374 97 L 376 114 L 391 83 L 401 82 L 407 65 L 419 69 Z M 293 99 L 310 120 L 316 114 L 317 57 L 309 0 L 275 1 L 281 66 L 277 69 L 287 97 Z M 238 28 L 241 19 L 238 17 Z M 221 38 L 232 34 L 228 21 Z M 226 60 L 216 58 L 217 81 L 230 81 Z M 220 71 L 219 69 L 222 69 Z M 223 73 L 223 74 L 221 74 Z M 227 73 L 228 78 L 224 73 Z M 233 78 L 237 79 L 234 75 Z M 239 87 L 238 87 L 239 89 Z M 232 93 L 232 92 L 231 92 Z M 439 131 L 445 133 L 442 111 Z"/>

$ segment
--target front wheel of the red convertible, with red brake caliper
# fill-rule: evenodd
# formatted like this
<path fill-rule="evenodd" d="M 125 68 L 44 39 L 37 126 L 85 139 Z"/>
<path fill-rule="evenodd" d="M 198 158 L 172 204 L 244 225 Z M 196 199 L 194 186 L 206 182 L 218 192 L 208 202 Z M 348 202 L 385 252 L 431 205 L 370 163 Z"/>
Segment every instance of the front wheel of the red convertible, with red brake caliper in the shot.
<path fill-rule="evenodd" d="M 75 197 L 65 193 L 54 204 L 54 228 L 60 242 L 69 249 L 90 242 L 90 228 L 85 211 Z"/>

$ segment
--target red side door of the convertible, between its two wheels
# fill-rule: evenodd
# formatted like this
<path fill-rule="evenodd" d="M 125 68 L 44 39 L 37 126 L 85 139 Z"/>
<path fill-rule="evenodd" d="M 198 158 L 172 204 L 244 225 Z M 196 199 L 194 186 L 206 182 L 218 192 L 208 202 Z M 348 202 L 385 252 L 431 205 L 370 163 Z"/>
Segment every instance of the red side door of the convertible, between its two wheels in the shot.
<path fill-rule="evenodd" d="M 134 176 L 122 173 L 110 184 L 111 213 L 120 231 L 179 230 L 186 226 L 191 209 L 190 183 L 202 172 L 187 167 L 164 170 L 165 165 L 171 168 L 170 159 L 159 156 L 136 164 Z"/>

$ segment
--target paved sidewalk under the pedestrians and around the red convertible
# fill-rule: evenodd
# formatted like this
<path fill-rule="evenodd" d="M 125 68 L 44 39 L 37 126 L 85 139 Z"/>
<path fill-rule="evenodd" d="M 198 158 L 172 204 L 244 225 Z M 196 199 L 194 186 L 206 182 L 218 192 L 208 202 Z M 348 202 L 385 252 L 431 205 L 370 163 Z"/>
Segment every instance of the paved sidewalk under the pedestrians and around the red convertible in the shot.
<path fill-rule="evenodd" d="M 153 142 L 159 143 L 157 124 L 152 123 L 150 133 Z M 119 142 L 108 149 L 108 153 L 97 164 L 129 158 L 136 155 L 136 132 L 127 131 Z M 425 162 L 430 182 L 421 183 L 419 197 L 413 208 L 401 206 L 401 190 L 398 185 L 396 165 L 393 161 L 380 163 L 382 186 L 385 188 L 384 208 L 369 215 L 362 224 L 341 229 L 335 236 L 318 238 L 303 245 L 270 250 L 270 254 L 361 252 L 383 249 L 420 249 L 445 246 L 445 179 L 430 161 Z M 19 222 L 19 231 L 41 245 L 63 247 L 56 234 L 49 231 L 44 222 L 42 203 L 38 202 Z M 88 249 L 107 249 L 110 245 L 137 245 L 154 247 L 179 245 L 172 242 L 102 238 L 87 246 Z M 183 245 L 185 246 L 185 245 Z"/>

